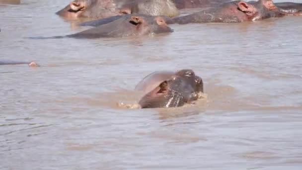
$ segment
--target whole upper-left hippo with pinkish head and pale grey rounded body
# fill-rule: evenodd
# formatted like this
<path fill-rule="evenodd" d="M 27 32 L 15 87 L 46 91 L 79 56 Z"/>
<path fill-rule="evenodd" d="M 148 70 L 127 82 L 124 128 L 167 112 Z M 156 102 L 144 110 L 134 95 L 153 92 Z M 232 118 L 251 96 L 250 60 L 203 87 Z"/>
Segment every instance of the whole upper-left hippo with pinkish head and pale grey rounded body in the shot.
<path fill-rule="evenodd" d="M 56 12 L 67 20 L 95 20 L 134 13 L 173 17 L 179 11 L 171 0 L 74 0 Z"/>

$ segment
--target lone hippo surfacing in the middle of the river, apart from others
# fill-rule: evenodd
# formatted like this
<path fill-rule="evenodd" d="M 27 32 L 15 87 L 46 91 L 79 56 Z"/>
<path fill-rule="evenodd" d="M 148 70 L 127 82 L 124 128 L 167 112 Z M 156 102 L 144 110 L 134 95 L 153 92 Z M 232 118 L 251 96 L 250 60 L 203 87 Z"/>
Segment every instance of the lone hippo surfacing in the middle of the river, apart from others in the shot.
<path fill-rule="evenodd" d="M 142 91 L 141 108 L 179 107 L 197 100 L 203 92 L 203 82 L 192 70 L 153 72 L 135 90 Z"/>

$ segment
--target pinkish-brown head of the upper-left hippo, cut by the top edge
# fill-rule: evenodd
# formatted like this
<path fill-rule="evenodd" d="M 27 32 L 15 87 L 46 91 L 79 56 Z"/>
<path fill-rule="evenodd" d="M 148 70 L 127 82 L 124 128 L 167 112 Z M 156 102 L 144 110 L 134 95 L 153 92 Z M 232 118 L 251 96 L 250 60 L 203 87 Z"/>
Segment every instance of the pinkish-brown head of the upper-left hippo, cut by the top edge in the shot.
<path fill-rule="evenodd" d="M 106 18 L 123 14 L 113 0 L 74 0 L 56 14 L 69 19 Z"/>

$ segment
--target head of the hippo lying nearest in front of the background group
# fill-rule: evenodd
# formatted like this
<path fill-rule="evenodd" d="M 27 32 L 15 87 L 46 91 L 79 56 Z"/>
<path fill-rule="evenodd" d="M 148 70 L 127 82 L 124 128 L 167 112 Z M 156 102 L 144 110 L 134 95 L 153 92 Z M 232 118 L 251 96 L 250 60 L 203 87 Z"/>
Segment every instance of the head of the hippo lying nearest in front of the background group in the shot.
<path fill-rule="evenodd" d="M 129 23 L 135 27 L 135 35 L 173 32 L 161 16 L 130 15 Z"/>

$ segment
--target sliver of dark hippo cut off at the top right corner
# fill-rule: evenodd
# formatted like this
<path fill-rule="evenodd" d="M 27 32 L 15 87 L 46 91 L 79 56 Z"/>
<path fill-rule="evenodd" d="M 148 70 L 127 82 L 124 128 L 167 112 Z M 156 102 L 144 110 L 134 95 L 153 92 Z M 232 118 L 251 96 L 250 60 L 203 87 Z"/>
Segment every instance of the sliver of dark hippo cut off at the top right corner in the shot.
<path fill-rule="evenodd" d="M 275 3 L 275 5 L 286 15 L 302 15 L 302 3 L 279 2 Z"/>

